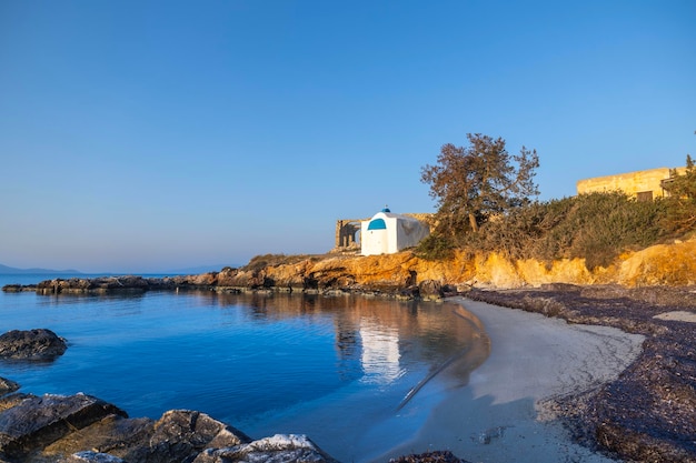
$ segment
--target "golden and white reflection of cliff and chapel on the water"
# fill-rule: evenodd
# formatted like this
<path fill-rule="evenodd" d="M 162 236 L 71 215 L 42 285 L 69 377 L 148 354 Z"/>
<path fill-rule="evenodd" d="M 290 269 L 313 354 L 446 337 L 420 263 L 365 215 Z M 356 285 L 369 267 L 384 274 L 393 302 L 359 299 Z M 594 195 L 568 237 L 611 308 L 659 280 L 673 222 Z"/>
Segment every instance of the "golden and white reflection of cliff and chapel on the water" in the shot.
<path fill-rule="evenodd" d="M 359 363 L 362 382 L 389 384 L 404 375 L 409 363 L 426 361 L 430 364 L 428 374 L 411 389 L 411 394 L 440 373 L 455 386 L 467 384 L 469 373 L 490 352 L 479 320 L 458 304 L 375 300 L 349 294 L 327 298 L 208 293 L 207 296 L 220 305 L 248 305 L 256 319 L 330 316 L 336 331 L 339 374 L 344 379 L 355 378 L 356 363 Z M 444 313 L 454 316 L 444 316 Z"/>

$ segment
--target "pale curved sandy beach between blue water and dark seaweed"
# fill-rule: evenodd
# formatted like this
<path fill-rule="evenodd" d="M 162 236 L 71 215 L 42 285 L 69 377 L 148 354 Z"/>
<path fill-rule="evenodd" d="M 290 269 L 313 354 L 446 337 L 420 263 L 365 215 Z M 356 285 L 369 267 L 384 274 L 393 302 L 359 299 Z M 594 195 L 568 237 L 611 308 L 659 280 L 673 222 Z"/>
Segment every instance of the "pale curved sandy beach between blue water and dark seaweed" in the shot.
<path fill-rule="evenodd" d="M 375 461 L 435 450 L 471 462 L 614 461 L 574 443 L 547 404 L 615 380 L 640 353 L 643 335 L 451 301 L 483 322 L 490 356 L 468 385 L 445 393 L 412 440 Z"/>

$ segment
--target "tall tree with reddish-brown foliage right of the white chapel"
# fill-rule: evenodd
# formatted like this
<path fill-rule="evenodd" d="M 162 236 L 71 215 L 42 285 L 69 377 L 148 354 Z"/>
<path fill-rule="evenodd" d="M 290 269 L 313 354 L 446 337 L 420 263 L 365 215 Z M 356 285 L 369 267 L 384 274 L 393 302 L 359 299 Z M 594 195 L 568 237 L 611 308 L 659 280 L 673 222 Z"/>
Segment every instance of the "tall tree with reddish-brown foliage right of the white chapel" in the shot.
<path fill-rule="evenodd" d="M 467 222 L 471 231 L 491 214 L 528 203 L 539 194 L 534 183 L 539 159 L 536 150 L 521 148 L 510 155 L 505 140 L 467 133 L 469 145 L 443 145 L 437 164 L 421 168 L 420 181 L 430 185 L 438 201 L 436 219 L 441 232 L 456 235 Z"/>

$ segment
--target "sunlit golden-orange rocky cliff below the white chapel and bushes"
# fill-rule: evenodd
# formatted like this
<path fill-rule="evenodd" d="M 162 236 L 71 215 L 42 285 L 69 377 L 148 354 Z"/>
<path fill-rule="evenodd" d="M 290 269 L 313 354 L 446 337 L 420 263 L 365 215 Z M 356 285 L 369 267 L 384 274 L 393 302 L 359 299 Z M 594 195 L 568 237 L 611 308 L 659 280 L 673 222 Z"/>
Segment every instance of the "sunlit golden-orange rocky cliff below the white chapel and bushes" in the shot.
<path fill-rule="evenodd" d="M 261 269 L 225 269 L 199 275 L 200 283 L 236 288 L 291 290 L 402 291 L 425 286 L 515 289 L 549 283 L 620 284 L 624 286 L 696 284 L 696 240 L 654 245 L 624 253 L 608 268 L 587 269 L 584 259 L 513 261 L 501 254 L 456 253 L 447 261 L 427 261 L 410 251 L 390 255 L 331 255 Z"/>

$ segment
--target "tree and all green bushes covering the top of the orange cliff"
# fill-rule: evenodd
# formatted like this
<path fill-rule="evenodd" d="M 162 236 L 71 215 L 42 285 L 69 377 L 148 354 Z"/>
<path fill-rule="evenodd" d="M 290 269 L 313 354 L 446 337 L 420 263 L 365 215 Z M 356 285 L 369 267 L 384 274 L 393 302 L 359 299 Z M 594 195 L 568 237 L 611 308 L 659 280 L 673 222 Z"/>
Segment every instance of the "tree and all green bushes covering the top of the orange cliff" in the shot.
<path fill-rule="evenodd" d="M 471 147 L 445 145 L 439 165 L 422 170 L 421 180 L 431 184 L 430 194 L 439 204 L 432 233 L 416 250 L 422 259 L 496 252 L 510 260 L 534 259 L 548 265 L 584 259 L 587 269 L 594 270 L 608 266 L 626 251 L 688 236 L 696 225 L 696 168 L 689 155 L 686 173 L 673 172 L 665 184 L 669 195 L 655 201 L 638 201 L 619 191 L 533 201 L 536 152 L 523 148 L 519 157 L 510 158 L 500 139 L 468 137 Z M 485 157 L 496 152 L 490 169 Z M 490 172 L 503 187 L 490 187 L 483 180 L 490 179 Z M 454 208 L 457 201 L 465 205 Z"/>

